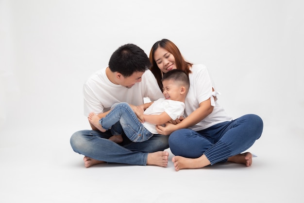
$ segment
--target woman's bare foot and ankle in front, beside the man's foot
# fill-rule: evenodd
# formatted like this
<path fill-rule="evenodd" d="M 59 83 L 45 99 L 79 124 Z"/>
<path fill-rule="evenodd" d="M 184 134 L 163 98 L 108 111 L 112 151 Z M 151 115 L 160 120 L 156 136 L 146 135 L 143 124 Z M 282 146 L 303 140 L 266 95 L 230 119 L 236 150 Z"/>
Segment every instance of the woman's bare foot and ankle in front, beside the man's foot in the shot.
<path fill-rule="evenodd" d="M 172 158 L 172 162 L 174 163 L 176 171 L 185 168 L 203 168 L 204 166 L 210 165 L 209 160 L 204 154 L 201 157 L 195 159 L 182 156 L 174 156 Z"/>

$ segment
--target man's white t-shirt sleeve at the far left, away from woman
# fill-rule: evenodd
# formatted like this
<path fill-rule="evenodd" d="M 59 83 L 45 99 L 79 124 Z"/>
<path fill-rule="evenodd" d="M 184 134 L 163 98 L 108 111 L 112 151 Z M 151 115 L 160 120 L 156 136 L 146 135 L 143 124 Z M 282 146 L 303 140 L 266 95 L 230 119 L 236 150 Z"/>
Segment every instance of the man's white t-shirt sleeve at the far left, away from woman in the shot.
<path fill-rule="evenodd" d="M 95 112 L 97 114 L 103 112 L 103 105 L 97 99 L 92 89 L 87 84 L 84 84 L 83 94 L 84 94 L 84 116 L 88 116 L 90 112 Z"/>

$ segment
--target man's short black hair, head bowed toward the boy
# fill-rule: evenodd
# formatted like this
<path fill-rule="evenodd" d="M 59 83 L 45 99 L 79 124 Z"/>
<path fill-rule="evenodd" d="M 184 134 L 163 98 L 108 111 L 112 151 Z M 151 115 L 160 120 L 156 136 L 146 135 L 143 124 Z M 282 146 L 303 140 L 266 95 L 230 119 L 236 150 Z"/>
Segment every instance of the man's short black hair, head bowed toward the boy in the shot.
<path fill-rule="evenodd" d="M 128 77 L 135 72 L 145 72 L 152 64 L 145 52 L 135 44 L 120 46 L 110 57 L 109 68 Z"/>

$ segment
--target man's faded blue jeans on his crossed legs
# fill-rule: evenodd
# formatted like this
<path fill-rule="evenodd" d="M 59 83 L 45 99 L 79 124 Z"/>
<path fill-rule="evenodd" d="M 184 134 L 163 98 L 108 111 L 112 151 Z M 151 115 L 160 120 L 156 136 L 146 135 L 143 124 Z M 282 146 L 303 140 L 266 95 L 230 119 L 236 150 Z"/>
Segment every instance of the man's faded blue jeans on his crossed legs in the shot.
<path fill-rule="evenodd" d="M 148 153 L 169 148 L 166 135 L 154 134 L 145 142 L 135 143 L 123 134 L 124 141 L 119 145 L 108 140 L 111 136 L 110 130 L 81 130 L 71 136 L 70 144 L 75 152 L 96 160 L 142 166 L 147 165 Z"/>

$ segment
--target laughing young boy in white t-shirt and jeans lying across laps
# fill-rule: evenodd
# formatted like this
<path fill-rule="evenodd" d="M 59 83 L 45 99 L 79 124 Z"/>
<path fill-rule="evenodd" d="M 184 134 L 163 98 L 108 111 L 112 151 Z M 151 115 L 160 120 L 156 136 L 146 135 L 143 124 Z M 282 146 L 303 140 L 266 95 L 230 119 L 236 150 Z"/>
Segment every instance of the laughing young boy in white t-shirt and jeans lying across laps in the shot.
<path fill-rule="evenodd" d="M 125 102 L 118 103 L 105 117 L 98 117 L 94 112 L 88 116 L 89 122 L 101 132 L 111 128 L 112 140 L 122 142 L 122 131 L 133 142 L 143 142 L 158 134 L 156 125 L 180 118 L 185 110 L 185 98 L 189 90 L 189 78 L 181 70 L 172 70 L 162 78 L 163 94 L 144 111 L 144 122 L 141 123 L 131 106 Z M 141 108 L 139 106 L 139 108 Z"/>

